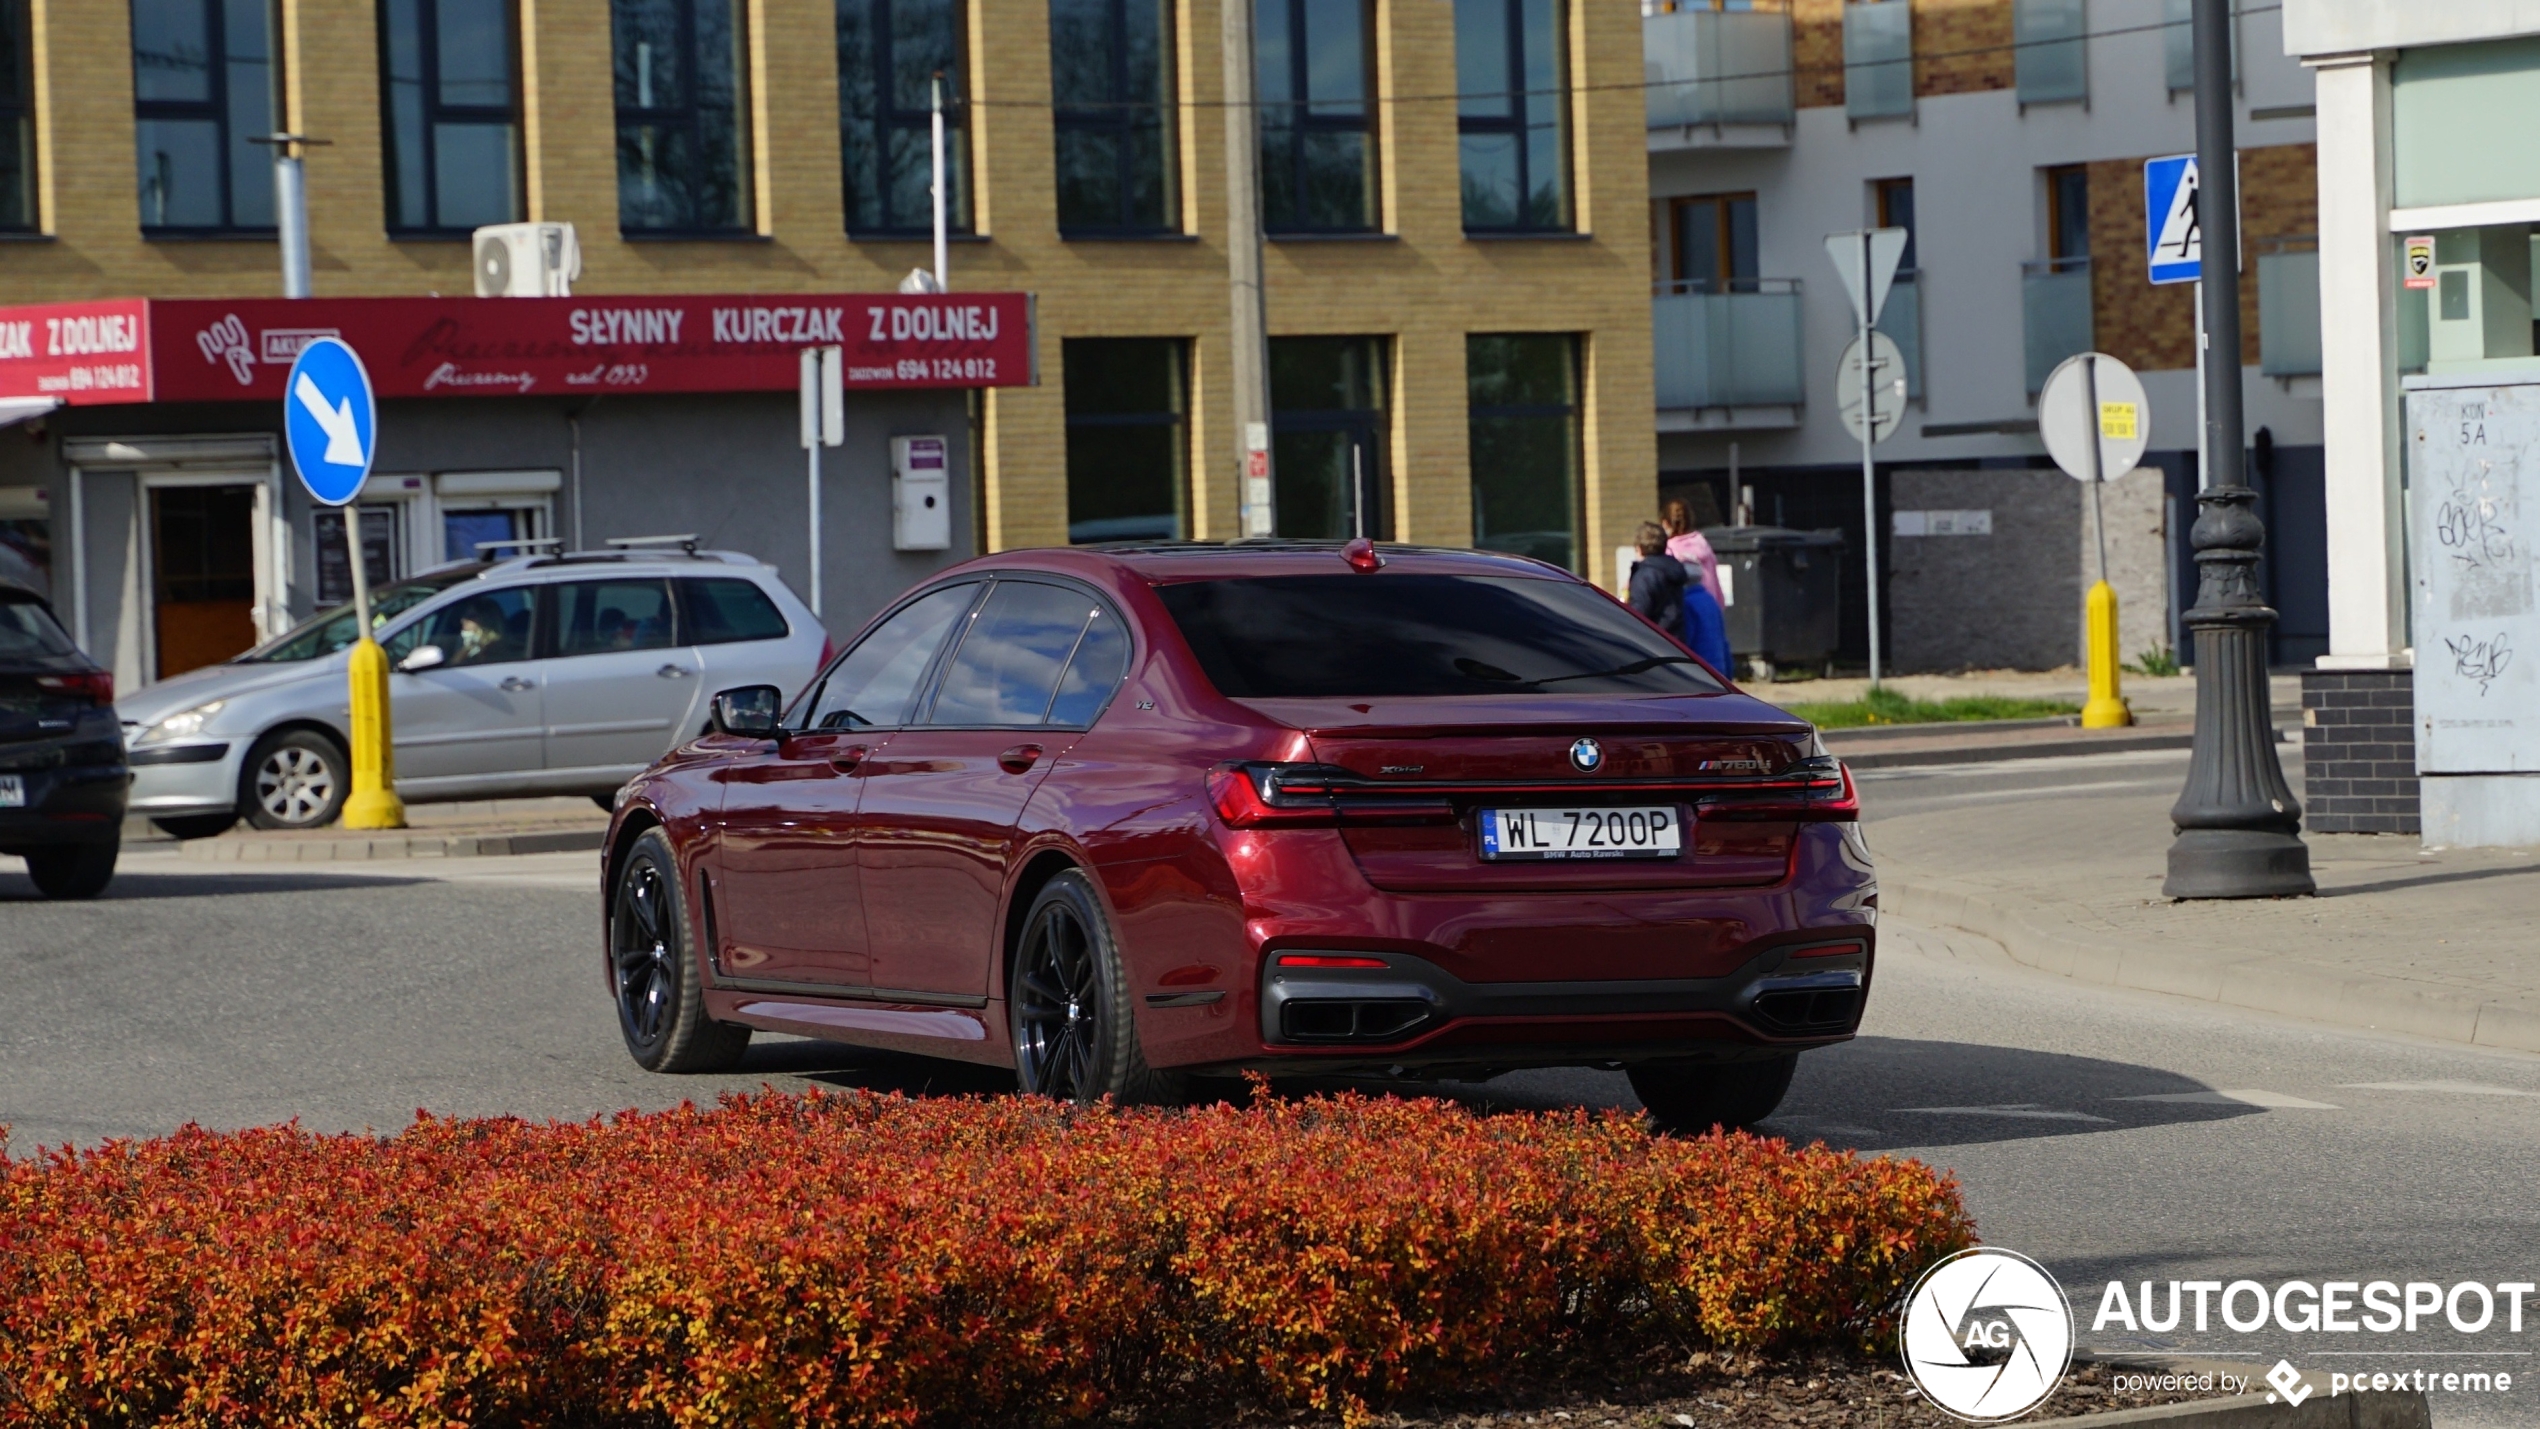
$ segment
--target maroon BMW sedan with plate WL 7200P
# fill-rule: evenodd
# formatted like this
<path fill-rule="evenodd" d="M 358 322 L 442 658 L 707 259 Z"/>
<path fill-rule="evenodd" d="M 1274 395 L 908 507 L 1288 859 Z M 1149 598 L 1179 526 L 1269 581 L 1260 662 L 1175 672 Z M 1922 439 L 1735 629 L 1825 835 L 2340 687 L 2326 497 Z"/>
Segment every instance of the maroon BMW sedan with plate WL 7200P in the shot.
<path fill-rule="evenodd" d="M 648 1069 L 752 1028 L 1125 1102 L 1621 1066 L 1709 1127 L 1869 990 L 1849 774 L 1537 561 L 1013 551 L 777 703 L 716 695 L 620 797 L 607 982 Z"/>

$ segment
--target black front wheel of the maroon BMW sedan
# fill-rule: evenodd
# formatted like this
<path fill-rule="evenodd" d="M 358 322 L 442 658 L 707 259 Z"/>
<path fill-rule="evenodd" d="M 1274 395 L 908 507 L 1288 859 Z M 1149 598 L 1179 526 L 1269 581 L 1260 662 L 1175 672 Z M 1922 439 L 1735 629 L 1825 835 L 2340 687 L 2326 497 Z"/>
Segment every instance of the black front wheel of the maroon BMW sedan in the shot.
<path fill-rule="evenodd" d="M 610 992 L 627 1056 L 645 1071 L 732 1071 L 749 1048 L 749 1028 L 706 1015 L 693 949 L 678 855 L 665 833 L 645 830 L 610 888 Z"/>

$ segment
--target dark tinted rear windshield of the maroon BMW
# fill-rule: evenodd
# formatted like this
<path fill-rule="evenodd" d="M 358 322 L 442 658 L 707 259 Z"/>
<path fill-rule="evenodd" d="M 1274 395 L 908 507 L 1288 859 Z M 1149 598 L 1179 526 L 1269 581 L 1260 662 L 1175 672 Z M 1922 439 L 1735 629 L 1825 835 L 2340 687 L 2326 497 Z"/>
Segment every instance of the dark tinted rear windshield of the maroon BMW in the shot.
<path fill-rule="evenodd" d="M 1161 586 L 1232 698 L 1722 690 L 1588 586 L 1516 576 L 1260 576 Z"/>

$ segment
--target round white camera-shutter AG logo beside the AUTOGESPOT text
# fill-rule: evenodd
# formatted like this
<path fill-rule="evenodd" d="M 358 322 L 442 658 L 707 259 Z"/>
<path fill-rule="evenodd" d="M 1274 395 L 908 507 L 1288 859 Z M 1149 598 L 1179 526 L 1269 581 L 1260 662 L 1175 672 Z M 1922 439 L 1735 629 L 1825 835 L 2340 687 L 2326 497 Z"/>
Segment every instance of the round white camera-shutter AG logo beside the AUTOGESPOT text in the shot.
<path fill-rule="evenodd" d="M 2073 1366 L 2062 1287 L 2017 1251 L 1976 1246 L 1923 1272 L 1905 1297 L 1905 1373 L 1968 1424 L 2037 1409 Z"/>

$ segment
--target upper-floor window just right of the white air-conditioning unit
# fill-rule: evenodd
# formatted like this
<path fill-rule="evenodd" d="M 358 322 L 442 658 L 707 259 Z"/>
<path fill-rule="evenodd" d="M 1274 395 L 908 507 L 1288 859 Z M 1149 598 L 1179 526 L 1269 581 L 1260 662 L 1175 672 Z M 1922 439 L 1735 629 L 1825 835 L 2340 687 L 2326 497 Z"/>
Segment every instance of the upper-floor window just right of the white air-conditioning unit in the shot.
<path fill-rule="evenodd" d="M 612 0 L 617 226 L 749 228 L 749 41 L 739 0 Z"/>

